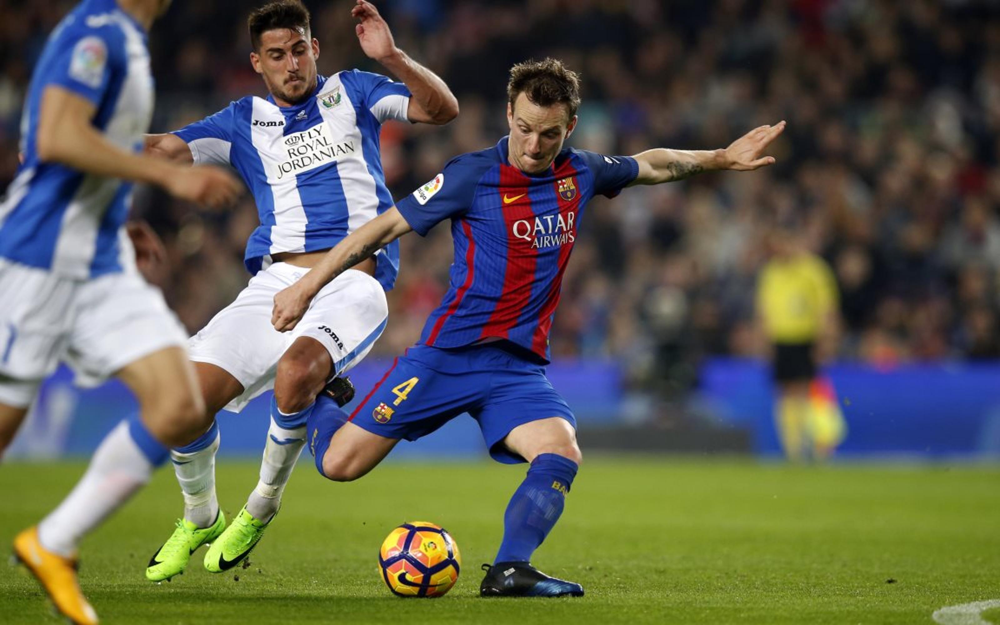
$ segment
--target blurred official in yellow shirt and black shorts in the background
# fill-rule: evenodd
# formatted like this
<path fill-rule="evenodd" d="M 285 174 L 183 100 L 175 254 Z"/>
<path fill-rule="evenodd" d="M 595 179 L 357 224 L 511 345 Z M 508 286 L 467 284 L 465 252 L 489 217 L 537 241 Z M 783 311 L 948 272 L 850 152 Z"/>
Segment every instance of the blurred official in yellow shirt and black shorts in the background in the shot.
<path fill-rule="evenodd" d="M 816 369 L 837 344 L 837 281 L 802 238 L 787 226 L 774 228 L 771 258 L 757 282 L 757 316 L 778 386 L 774 422 L 785 456 L 794 462 L 828 458 L 846 429 L 830 382 Z"/>

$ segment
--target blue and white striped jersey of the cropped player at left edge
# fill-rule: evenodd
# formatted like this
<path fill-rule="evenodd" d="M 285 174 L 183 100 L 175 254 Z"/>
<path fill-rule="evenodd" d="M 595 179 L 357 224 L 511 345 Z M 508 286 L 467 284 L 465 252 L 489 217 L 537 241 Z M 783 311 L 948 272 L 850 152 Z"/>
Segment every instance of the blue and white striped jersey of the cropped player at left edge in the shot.
<path fill-rule="evenodd" d="M 38 160 L 42 93 L 58 85 L 94 103 L 92 123 L 139 151 L 153 111 L 146 33 L 115 0 L 84 0 L 49 36 L 21 121 L 23 163 L 0 204 L 0 257 L 85 279 L 133 264 L 122 224 L 131 183 Z"/>

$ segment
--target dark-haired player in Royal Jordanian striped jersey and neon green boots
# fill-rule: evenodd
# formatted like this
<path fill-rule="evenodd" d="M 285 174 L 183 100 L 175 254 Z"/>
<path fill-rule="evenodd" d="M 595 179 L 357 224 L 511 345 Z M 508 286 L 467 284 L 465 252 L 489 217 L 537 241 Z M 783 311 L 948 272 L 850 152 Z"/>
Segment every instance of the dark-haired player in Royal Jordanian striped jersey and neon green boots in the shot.
<path fill-rule="evenodd" d="M 146 577 L 152 581 L 183 572 L 204 544 L 211 543 L 204 565 L 213 573 L 250 553 L 281 505 L 317 394 L 329 383 L 341 402 L 349 401 L 350 383 L 335 377 L 364 358 L 385 328 L 385 291 L 396 279 L 398 244 L 324 283 L 294 332 L 271 326 L 276 293 L 392 206 L 379 155 L 382 122 L 444 124 L 458 114 L 448 86 L 395 46 L 374 6 L 358 0 L 352 15 L 362 50 L 402 84 L 357 70 L 317 76 L 319 42 L 310 34 L 309 12 L 297 0 L 281 0 L 254 11 L 248 24 L 250 62 L 270 96 L 245 97 L 175 133 L 147 139 L 153 154 L 235 167 L 253 193 L 261 223 L 246 250 L 254 277 L 191 339 L 207 431 L 172 452 L 184 518 L 150 559 Z M 215 493 L 214 415 L 223 408 L 239 412 L 272 386 L 260 480 L 226 527 Z"/>

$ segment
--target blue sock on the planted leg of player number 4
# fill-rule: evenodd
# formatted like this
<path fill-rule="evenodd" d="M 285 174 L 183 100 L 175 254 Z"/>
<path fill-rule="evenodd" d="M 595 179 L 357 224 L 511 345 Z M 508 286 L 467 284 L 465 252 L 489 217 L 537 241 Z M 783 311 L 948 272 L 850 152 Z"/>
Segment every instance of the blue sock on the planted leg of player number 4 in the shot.
<path fill-rule="evenodd" d="M 539 454 L 503 515 L 503 542 L 494 564 L 530 562 L 562 514 L 578 465 L 558 454 Z"/>

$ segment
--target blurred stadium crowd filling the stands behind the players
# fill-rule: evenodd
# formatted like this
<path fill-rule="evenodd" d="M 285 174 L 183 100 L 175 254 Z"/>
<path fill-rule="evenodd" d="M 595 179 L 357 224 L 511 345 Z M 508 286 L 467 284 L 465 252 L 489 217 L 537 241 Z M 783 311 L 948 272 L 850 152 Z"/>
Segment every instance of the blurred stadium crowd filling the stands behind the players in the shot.
<path fill-rule="evenodd" d="M 154 131 L 246 94 L 245 16 L 256 2 L 176 0 L 152 34 Z M 348 1 L 307 0 L 325 74 L 381 71 L 354 36 Z M 43 38 L 72 5 L 0 0 L 0 183 L 17 166 L 20 106 Z M 452 156 L 506 133 L 511 64 L 558 56 L 580 71 L 575 147 L 725 147 L 788 120 L 755 174 L 710 174 L 594 201 L 556 316 L 556 356 L 614 357 L 630 380 L 688 388 L 708 355 L 760 353 L 756 273 L 775 225 L 833 268 L 840 358 L 879 365 L 1000 357 L 1000 3 L 995 0 L 533 0 L 378 3 L 397 44 L 461 103 L 448 127 L 383 129 L 399 197 Z M 256 225 L 244 199 L 205 214 L 143 190 L 139 216 L 167 242 L 161 276 L 194 331 L 246 283 Z M 391 322 L 375 353 L 417 337 L 444 292 L 450 234 L 403 240 Z"/>

